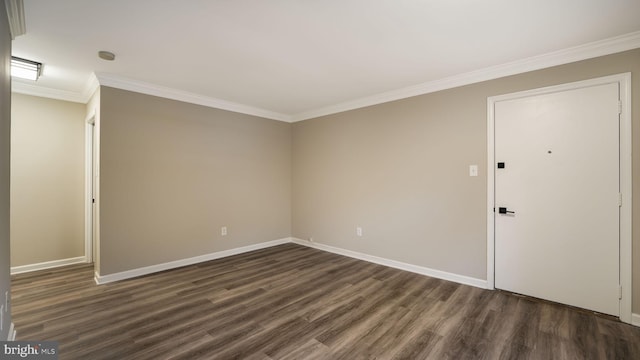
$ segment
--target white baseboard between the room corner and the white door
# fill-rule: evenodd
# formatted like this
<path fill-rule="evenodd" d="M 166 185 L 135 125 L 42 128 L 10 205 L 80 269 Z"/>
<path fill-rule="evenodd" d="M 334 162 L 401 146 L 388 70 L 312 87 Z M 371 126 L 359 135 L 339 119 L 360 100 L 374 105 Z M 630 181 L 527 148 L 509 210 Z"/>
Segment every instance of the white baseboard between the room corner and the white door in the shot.
<path fill-rule="evenodd" d="M 344 256 L 355 258 L 355 259 L 364 260 L 364 261 L 368 261 L 368 262 L 372 262 L 372 263 L 376 263 L 384 266 L 389 266 L 389 267 L 400 269 L 400 270 L 410 271 L 416 274 L 427 275 L 427 276 L 431 276 L 431 277 L 442 279 L 442 280 L 453 281 L 453 282 L 457 282 L 464 285 L 479 287 L 482 289 L 487 288 L 486 280 L 476 279 L 469 276 L 458 275 L 458 274 L 453 274 L 446 271 L 430 269 L 423 266 L 407 264 L 401 261 L 385 259 L 385 258 L 373 256 L 373 255 L 359 253 L 356 251 L 319 244 L 317 242 L 310 242 L 310 241 L 296 239 L 296 238 L 292 238 L 291 242 L 294 242 L 296 244 L 303 245 L 303 246 L 312 247 L 318 250 L 331 252 L 334 254 L 344 255 Z"/>

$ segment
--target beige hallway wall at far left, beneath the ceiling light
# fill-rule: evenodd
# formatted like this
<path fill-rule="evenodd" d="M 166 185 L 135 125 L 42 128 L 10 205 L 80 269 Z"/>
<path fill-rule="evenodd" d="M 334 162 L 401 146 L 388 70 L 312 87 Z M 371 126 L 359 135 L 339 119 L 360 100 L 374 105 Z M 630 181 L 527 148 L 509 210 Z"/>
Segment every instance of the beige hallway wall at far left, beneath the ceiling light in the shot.
<path fill-rule="evenodd" d="M 11 266 L 84 256 L 85 106 L 13 94 Z"/>

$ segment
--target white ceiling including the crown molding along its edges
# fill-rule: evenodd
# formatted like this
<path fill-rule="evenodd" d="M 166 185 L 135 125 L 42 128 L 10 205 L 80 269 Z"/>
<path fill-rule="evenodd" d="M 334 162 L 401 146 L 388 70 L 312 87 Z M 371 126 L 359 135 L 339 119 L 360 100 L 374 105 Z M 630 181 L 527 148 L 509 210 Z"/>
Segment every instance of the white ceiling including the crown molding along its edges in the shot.
<path fill-rule="evenodd" d="M 295 121 L 640 47 L 640 0 L 24 0 L 14 91 L 100 84 Z M 109 62 L 99 50 L 116 54 Z"/>

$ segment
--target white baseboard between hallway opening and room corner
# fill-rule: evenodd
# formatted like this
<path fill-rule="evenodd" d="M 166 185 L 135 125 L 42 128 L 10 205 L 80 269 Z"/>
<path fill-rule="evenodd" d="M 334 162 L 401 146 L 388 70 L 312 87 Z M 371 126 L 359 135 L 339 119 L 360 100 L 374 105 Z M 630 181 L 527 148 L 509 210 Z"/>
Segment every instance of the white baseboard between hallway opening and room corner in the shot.
<path fill-rule="evenodd" d="M 187 265 L 193 265 L 193 264 L 197 264 L 205 261 L 220 259 L 227 256 L 238 255 L 238 254 L 246 253 L 249 251 L 265 249 L 272 246 L 282 245 L 290 242 L 291 242 L 291 238 L 283 238 L 283 239 L 267 241 L 259 244 L 243 246 L 235 249 L 218 251 L 218 252 L 210 253 L 206 255 L 195 256 L 192 258 L 169 261 L 169 262 L 157 264 L 157 265 L 145 266 L 142 268 L 127 270 L 127 271 L 123 271 L 115 274 L 100 275 L 96 273 L 94 280 L 96 284 L 102 285 L 102 284 L 106 284 L 114 281 L 126 280 L 126 279 L 131 279 L 131 278 L 142 276 L 142 275 L 148 275 L 148 274 L 152 274 L 159 271 L 175 269 L 175 268 L 179 268 Z"/>

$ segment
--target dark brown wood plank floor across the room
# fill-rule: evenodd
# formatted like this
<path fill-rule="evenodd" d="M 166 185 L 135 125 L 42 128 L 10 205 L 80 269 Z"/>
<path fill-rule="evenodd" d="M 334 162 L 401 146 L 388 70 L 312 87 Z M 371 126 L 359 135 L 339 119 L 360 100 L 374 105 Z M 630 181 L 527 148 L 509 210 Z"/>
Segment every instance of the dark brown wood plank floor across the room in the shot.
<path fill-rule="evenodd" d="M 60 359 L 640 359 L 609 317 L 294 244 L 96 285 L 13 276 L 18 340 Z"/>

